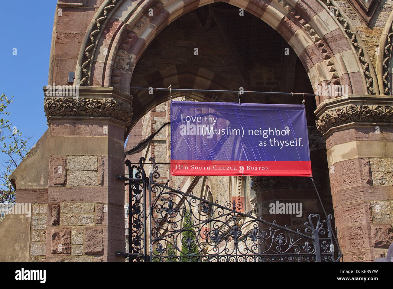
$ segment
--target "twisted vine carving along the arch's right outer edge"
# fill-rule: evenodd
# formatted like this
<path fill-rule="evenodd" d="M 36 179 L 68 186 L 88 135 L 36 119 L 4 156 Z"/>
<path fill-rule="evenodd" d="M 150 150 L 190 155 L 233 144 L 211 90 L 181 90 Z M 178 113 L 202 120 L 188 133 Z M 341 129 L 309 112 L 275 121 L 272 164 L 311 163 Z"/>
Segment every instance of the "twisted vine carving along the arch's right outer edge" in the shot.
<path fill-rule="evenodd" d="M 366 57 L 365 48 L 363 45 L 360 44 L 361 43 L 360 38 L 358 37 L 358 35 L 356 35 L 356 32 L 351 30 L 351 27 L 349 25 L 349 20 L 340 13 L 337 4 L 335 4 L 331 0 L 323 0 L 321 2 L 327 7 L 327 9 L 331 11 L 330 15 L 337 19 L 338 23 L 341 24 L 345 33 L 347 33 L 348 37 L 351 39 L 352 45 L 355 48 L 356 54 L 363 67 L 363 73 L 367 81 L 367 94 L 376 94 L 373 88 L 374 78 L 373 75 L 371 75 L 372 72 L 371 67 L 373 66 L 372 64 L 370 65 L 370 63 L 365 58 Z"/>

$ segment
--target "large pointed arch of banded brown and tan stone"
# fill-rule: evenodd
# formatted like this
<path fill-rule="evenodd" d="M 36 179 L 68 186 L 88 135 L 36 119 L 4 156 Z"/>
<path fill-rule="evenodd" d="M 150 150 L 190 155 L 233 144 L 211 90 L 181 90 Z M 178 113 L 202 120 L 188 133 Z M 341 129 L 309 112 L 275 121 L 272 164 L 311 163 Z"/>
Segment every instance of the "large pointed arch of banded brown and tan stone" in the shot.
<path fill-rule="evenodd" d="M 84 38 L 75 83 L 129 93 L 136 63 L 155 35 L 176 18 L 213 2 L 103 2 Z M 347 85 L 349 94 L 379 93 L 362 40 L 334 2 L 235 0 L 230 4 L 264 20 L 283 36 L 302 61 L 314 91 L 321 84 L 334 84 Z M 317 97 L 317 105 L 327 98 Z"/>

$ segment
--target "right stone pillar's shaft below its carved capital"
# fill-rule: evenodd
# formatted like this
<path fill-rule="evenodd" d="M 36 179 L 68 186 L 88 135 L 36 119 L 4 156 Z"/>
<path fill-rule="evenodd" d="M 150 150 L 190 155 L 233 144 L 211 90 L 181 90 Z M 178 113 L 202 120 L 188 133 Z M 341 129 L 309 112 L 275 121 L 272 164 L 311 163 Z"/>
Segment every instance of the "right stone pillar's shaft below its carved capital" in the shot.
<path fill-rule="evenodd" d="M 384 256 L 393 242 L 393 131 L 382 124 L 352 124 L 328 135 L 334 215 L 340 217 L 336 224 L 344 261 Z"/>

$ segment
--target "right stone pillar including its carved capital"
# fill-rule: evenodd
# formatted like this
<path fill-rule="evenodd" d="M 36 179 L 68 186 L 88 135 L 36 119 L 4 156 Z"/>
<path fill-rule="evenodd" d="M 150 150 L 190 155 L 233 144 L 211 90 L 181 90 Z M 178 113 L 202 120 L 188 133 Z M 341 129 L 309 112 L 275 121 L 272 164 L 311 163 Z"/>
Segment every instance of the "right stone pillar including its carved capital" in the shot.
<path fill-rule="evenodd" d="M 391 96 L 350 95 L 316 110 L 344 261 L 372 261 L 393 242 L 392 104 Z"/>

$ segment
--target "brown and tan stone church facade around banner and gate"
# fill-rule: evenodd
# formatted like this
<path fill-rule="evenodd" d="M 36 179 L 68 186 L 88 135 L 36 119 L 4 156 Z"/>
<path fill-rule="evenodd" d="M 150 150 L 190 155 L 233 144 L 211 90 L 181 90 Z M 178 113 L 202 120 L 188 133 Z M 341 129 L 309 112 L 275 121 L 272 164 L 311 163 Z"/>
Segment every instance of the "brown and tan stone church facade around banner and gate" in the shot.
<path fill-rule="evenodd" d="M 48 83 L 37 84 L 48 130 L 11 176 L 31 216 L 2 221 L 0 260 L 124 261 L 116 251 L 124 251 L 132 201 L 116 175 L 130 177 L 125 160 L 141 156 L 162 163 L 162 184 L 240 201 L 244 214 L 290 228 L 323 215 L 323 204 L 343 261 L 385 256 L 393 242 L 392 9 L 391 0 L 59 0 Z M 187 90 L 156 89 L 169 86 Z M 321 201 L 301 177 L 171 176 L 171 99 L 237 102 L 228 90 L 266 92 L 242 94 L 244 103 L 305 100 Z M 280 203 L 302 212 L 272 214 Z"/>

